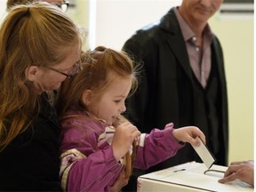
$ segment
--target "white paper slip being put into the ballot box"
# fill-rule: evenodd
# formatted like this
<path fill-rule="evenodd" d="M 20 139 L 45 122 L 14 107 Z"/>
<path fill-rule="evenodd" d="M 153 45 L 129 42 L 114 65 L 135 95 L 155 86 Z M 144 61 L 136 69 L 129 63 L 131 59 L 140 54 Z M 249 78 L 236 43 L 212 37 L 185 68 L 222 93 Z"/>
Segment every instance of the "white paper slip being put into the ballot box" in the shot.
<path fill-rule="evenodd" d="M 192 145 L 192 147 L 196 150 L 196 153 L 200 156 L 207 169 L 210 169 L 212 164 L 215 162 L 215 158 L 199 137 L 196 137 L 196 140 L 199 140 L 200 146 Z"/>

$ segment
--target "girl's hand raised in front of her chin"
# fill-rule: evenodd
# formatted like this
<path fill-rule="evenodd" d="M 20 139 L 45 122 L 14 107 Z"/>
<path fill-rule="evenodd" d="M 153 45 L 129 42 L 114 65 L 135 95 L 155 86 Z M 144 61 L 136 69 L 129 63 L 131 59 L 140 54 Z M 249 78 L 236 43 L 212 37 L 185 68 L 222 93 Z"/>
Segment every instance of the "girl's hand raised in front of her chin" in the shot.
<path fill-rule="evenodd" d="M 116 161 L 119 161 L 127 153 L 133 140 L 138 136 L 140 136 L 140 131 L 130 122 L 124 122 L 116 127 L 111 144 Z"/>

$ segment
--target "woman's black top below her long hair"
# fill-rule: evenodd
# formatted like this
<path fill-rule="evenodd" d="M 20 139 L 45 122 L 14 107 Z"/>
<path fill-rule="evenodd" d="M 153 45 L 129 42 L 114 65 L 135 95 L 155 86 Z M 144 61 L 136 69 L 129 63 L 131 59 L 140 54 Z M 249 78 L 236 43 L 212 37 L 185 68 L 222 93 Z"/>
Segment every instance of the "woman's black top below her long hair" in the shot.
<path fill-rule="evenodd" d="M 44 95 L 45 96 L 45 95 Z M 0 152 L 0 191 L 60 191 L 59 124 L 42 96 L 42 111 L 33 127 Z"/>

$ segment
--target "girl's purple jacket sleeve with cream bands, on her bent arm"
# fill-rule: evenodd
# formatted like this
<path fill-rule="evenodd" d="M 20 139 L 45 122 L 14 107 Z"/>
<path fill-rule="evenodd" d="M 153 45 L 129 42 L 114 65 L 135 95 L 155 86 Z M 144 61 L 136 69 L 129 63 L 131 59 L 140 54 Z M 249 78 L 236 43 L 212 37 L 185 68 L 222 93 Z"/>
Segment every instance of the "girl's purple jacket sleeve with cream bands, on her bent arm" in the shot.
<path fill-rule="evenodd" d="M 108 142 L 98 146 L 98 139 L 93 134 L 88 134 L 84 140 L 84 134 L 79 130 L 66 132 L 60 156 L 61 188 L 64 191 L 109 191 L 121 171 L 122 165 L 116 162 Z"/>

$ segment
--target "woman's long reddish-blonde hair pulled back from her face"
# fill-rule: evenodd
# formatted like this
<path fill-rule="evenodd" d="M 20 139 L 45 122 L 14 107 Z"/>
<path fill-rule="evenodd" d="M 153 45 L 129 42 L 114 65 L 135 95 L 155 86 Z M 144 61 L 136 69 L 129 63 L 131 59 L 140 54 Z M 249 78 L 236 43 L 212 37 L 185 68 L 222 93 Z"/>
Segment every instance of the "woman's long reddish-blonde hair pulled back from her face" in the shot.
<path fill-rule="evenodd" d="M 67 57 L 65 47 L 79 51 L 81 42 L 74 22 L 54 5 L 18 5 L 6 15 L 0 28 L 0 151 L 39 113 L 40 95 L 26 69 L 56 65 Z"/>

